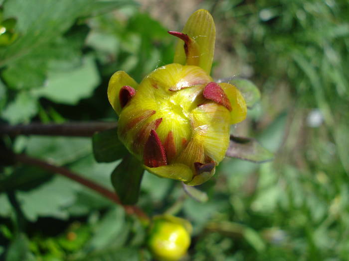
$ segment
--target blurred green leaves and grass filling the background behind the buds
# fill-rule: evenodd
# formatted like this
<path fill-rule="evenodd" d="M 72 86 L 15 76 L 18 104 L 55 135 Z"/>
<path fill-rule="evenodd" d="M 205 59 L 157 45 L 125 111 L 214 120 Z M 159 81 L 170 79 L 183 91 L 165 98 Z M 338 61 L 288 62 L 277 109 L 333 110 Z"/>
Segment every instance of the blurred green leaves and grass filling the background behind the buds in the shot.
<path fill-rule="evenodd" d="M 124 70 L 140 81 L 171 63 L 175 39 L 167 30 L 184 23 L 166 28 L 127 0 L 0 5 L 0 28 L 15 20 L 16 39 L 0 44 L 0 118 L 10 124 L 116 120 L 106 96 L 111 75 Z M 218 31 L 214 76 L 248 77 L 261 89 L 262 101 L 232 133 L 256 137 L 277 157 L 263 165 L 226 159 L 200 186 L 206 203 L 180 201 L 178 182 L 146 173 L 139 206 L 154 215 L 182 204 L 178 215 L 194 229 L 187 260 L 347 260 L 348 2 L 207 0 L 199 7 L 211 11 Z M 6 142 L 112 188 L 119 162 L 96 163 L 90 139 Z M 2 167 L 0 192 L 0 260 L 151 260 L 138 219 L 64 177 Z"/>

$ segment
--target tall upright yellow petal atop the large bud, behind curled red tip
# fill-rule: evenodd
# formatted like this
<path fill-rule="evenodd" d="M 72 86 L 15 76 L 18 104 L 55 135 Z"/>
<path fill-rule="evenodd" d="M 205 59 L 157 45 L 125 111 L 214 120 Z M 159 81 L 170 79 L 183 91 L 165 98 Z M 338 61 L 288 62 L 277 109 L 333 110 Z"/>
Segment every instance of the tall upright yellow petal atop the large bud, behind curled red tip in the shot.
<path fill-rule="evenodd" d="M 210 74 L 216 38 L 216 29 L 211 14 L 204 9 L 197 10 L 189 17 L 182 32 L 195 40 L 199 46 L 199 66 Z M 176 44 L 174 63 L 186 64 L 182 40 L 178 40 Z"/>

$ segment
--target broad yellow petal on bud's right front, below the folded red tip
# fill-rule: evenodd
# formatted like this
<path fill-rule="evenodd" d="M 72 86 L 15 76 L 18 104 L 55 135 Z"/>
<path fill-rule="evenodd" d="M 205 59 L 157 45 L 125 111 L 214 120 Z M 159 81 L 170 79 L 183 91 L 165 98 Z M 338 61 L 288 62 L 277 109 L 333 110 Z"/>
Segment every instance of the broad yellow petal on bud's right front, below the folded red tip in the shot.
<path fill-rule="evenodd" d="M 209 102 L 196 107 L 191 113 L 195 141 L 202 144 L 205 155 L 218 164 L 223 160 L 229 146 L 228 109 L 215 102 Z"/>

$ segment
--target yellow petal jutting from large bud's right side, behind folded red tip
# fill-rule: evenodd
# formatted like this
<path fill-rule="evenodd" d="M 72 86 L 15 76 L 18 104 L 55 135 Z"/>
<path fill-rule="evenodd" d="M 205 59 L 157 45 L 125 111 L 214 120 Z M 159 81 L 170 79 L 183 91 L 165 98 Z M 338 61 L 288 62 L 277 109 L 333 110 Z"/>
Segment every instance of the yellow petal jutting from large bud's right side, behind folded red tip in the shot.
<path fill-rule="evenodd" d="M 236 124 L 243 121 L 247 115 L 247 106 L 241 92 L 233 85 L 219 84 L 231 103 L 230 124 Z"/>

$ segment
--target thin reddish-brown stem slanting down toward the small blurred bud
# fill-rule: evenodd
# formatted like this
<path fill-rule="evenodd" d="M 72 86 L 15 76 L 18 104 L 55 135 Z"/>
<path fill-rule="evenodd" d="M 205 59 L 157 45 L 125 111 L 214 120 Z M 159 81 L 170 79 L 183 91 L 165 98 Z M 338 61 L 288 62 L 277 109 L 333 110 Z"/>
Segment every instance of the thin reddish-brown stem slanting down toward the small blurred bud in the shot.
<path fill-rule="evenodd" d="M 44 169 L 48 172 L 51 172 L 54 174 L 61 174 L 67 178 L 70 178 L 70 179 L 72 179 L 72 180 L 74 180 L 74 181 L 76 181 L 76 182 L 78 182 L 86 187 L 89 187 L 89 188 L 95 190 L 96 192 L 100 193 L 102 196 L 110 199 L 111 201 L 121 205 L 125 209 L 127 214 L 135 214 L 139 218 L 141 218 L 142 220 L 149 220 L 149 217 L 147 216 L 147 214 L 144 213 L 137 206 L 122 205 L 120 202 L 120 199 L 116 193 L 114 193 L 114 192 L 110 191 L 109 189 L 95 183 L 92 180 L 89 180 L 85 177 L 82 177 L 82 176 L 76 174 L 76 173 L 73 173 L 64 167 L 54 166 L 54 165 L 49 164 L 45 161 L 31 158 L 31 157 L 23 155 L 23 154 L 15 154 L 15 155 L 13 155 L 13 157 L 14 157 L 14 160 L 16 162 L 36 166 L 36 167 Z"/>

